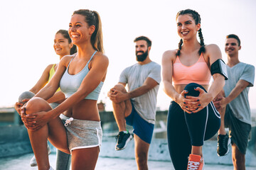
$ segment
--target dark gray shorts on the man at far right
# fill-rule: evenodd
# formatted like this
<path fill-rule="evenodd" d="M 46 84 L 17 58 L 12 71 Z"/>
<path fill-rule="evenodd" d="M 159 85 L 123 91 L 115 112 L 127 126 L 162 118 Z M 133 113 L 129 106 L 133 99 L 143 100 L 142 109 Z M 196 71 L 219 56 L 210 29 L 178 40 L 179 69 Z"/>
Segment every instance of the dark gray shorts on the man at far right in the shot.
<path fill-rule="evenodd" d="M 231 142 L 238 146 L 238 149 L 242 154 L 245 154 L 248 146 L 251 125 L 243 123 L 238 120 L 238 118 L 235 118 L 233 111 L 228 105 L 226 107 L 224 120 L 225 128 L 229 128 Z"/>

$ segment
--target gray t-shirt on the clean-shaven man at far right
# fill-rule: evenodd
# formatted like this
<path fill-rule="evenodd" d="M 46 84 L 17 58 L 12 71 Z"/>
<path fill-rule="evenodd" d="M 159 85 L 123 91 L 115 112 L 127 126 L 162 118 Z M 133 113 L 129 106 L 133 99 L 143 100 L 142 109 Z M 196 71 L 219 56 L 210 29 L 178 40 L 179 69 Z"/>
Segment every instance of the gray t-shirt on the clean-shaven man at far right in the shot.
<path fill-rule="evenodd" d="M 224 91 L 225 96 L 228 96 L 230 92 L 235 88 L 235 85 L 240 79 L 245 80 L 249 85 L 229 103 L 230 109 L 233 111 L 236 118 L 244 123 L 251 124 L 251 113 L 248 100 L 249 87 L 253 86 L 255 79 L 255 67 L 250 64 L 239 62 L 233 67 L 228 67 L 228 80 L 225 81 Z"/>

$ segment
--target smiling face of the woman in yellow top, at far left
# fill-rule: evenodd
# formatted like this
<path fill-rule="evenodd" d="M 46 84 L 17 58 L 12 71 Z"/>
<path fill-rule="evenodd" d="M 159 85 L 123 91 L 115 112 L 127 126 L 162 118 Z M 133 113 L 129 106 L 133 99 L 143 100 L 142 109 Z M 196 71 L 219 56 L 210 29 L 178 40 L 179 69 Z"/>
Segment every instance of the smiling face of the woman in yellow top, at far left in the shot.
<path fill-rule="evenodd" d="M 70 49 L 72 46 L 72 43 L 69 43 L 68 39 L 65 38 L 61 33 L 55 34 L 53 48 L 57 55 L 60 55 L 60 57 L 70 55 Z"/>

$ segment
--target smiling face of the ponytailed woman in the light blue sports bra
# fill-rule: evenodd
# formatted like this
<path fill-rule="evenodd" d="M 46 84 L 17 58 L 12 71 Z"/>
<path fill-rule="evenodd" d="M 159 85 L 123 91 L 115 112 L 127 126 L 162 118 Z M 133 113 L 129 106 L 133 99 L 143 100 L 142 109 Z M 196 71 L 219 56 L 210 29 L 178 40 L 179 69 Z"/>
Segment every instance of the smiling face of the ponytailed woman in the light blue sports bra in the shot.
<path fill-rule="evenodd" d="M 90 37 L 95 30 L 95 26 L 88 26 L 85 16 L 74 14 L 71 17 L 68 33 L 75 45 L 90 42 Z"/>

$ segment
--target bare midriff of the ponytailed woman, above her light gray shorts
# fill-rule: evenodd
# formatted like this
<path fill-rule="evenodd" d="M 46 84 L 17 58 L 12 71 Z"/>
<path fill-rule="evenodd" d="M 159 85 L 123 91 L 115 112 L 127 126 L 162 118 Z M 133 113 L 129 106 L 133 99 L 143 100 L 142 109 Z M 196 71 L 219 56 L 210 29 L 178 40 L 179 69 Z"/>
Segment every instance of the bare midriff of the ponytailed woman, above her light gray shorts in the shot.
<path fill-rule="evenodd" d="M 97 101 L 95 100 L 83 99 L 63 114 L 69 118 L 72 117 L 79 120 L 100 121 Z"/>

